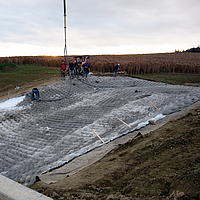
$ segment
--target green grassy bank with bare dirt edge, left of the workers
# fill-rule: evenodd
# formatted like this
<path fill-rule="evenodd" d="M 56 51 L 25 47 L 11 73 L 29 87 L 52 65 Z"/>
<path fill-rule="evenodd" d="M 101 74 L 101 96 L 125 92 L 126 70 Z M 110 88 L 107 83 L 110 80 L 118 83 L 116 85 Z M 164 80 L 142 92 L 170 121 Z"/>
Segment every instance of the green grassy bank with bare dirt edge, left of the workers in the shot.
<path fill-rule="evenodd" d="M 0 64 L 0 100 L 45 86 L 59 78 L 59 69 L 41 65 Z M 17 89 L 16 89 L 17 88 Z"/>

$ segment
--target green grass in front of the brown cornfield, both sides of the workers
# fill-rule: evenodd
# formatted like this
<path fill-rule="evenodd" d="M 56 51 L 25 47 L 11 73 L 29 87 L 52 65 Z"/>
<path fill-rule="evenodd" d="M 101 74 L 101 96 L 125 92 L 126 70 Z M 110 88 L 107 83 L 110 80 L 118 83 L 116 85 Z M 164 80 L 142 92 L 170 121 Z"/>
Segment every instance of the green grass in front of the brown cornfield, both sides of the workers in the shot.
<path fill-rule="evenodd" d="M 98 73 L 98 75 L 101 75 L 101 73 Z M 200 86 L 200 74 L 158 73 L 129 76 L 151 81 L 165 82 L 169 84 Z M 33 82 L 36 84 L 41 80 L 47 81 L 53 78 L 55 79 L 55 77 L 60 77 L 60 70 L 55 67 L 44 67 L 35 64 L 17 65 L 13 70 L 9 70 L 8 72 L 0 72 L 0 92 L 14 89 L 15 86 L 28 85 Z"/>

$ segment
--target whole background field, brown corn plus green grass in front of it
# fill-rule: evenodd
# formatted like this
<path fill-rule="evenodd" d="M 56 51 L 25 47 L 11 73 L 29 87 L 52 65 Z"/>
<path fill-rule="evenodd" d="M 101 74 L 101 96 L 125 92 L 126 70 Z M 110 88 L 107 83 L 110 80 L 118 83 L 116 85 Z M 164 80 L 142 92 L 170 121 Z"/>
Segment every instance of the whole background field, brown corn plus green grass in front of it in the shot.
<path fill-rule="evenodd" d="M 73 60 L 73 56 L 68 57 Z M 63 56 L 19 56 L 0 58 L 0 92 L 15 86 L 37 85 L 41 80 L 59 78 Z M 6 66 L 5 63 L 10 63 Z M 91 71 L 112 75 L 120 63 L 119 74 L 170 84 L 200 86 L 200 53 L 164 53 L 90 56 Z M 120 73 L 122 72 L 122 73 Z M 109 74 L 110 73 L 110 74 Z"/>

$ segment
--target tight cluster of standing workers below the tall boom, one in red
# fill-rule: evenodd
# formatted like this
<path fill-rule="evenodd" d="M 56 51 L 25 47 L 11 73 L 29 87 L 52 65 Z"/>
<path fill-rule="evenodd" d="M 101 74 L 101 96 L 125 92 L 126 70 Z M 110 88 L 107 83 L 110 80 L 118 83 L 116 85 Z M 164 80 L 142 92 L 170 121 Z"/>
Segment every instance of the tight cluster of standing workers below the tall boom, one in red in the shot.
<path fill-rule="evenodd" d="M 88 76 L 89 73 L 89 68 L 90 68 L 90 64 L 88 63 L 88 61 L 86 60 L 85 62 L 83 62 L 82 64 L 79 64 L 76 62 L 76 60 L 74 60 L 74 62 L 69 61 L 69 75 L 70 78 L 74 79 L 74 77 L 79 78 L 79 74 L 81 71 L 81 65 L 82 65 L 82 70 L 83 70 L 83 77 Z M 60 71 L 61 71 L 61 80 L 65 80 L 65 73 L 67 71 L 67 67 L 65 65 L 65 62 L 63 61 L 62 64 L 60 65 Z"/>

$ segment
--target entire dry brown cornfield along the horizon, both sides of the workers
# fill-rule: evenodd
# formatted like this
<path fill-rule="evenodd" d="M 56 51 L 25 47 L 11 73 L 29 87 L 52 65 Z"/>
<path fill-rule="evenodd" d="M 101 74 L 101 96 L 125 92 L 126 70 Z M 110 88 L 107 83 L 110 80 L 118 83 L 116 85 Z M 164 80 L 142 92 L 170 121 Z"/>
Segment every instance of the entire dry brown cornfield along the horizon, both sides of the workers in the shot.
<path fill-rule="evenodd" d="M 73 56 L 68 56 L 68 59 L 73 60 Z M 0 64 L 38 64 L 47 67 L 59 67 L 63 60 L 63 56 L 0 57 Z M 200 53 L 92 55 L 89 63 L 93 72 L 112 72 L 113 67 L 120 63 L 119 71 L 128 74 L 200 73 Z"/>

